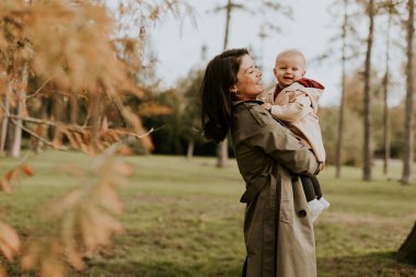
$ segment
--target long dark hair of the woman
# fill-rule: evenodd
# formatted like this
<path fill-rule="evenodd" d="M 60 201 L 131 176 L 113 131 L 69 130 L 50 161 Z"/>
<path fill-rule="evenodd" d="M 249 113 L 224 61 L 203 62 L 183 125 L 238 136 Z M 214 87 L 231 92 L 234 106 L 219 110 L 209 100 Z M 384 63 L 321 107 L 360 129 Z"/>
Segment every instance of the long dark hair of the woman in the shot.
<path fill-rule="evenodd" d="M 244 48 L 226 50 L 213 57 L 205 70 L 200 88 L 201 127 L 204 137 L 216 142 L 227 137 L 231 124 L 232 86 L 236 83 L 236 74 L 241 60 L 249 51 Z"/>

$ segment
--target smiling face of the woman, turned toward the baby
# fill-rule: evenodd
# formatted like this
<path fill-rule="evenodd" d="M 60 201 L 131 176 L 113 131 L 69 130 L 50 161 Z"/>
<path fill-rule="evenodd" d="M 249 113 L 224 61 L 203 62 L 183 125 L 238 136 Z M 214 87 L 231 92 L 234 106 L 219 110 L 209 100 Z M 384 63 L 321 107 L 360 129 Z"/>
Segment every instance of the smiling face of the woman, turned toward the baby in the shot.
<path fill-rule="evenodd" d="M 256 96 L 264 90 L 262 70 L 255 66 L 254 60 L 249 55 L 242 57 L 236 80 L 234 88 L 243 101 L 256 100 Z"/>

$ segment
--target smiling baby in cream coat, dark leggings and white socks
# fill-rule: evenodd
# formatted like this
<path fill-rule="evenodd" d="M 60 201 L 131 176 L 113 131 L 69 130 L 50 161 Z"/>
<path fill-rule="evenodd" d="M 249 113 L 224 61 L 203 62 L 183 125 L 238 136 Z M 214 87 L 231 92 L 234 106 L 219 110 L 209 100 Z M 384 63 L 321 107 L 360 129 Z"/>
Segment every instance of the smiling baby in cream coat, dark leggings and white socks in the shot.
<path fill-rule="evenodd" d="M 319 162 L 325 163 L 325 149 L 316 115 L 317 101 L 324 86 L 304 78 L 305 68 L 307 62 L 302 53 L 288 49 L 278 54 L 273 70 L 278 83 L 261 99 L 265 102 L 263 107 L 308 146 Z M 301 180 L 314 221 L 330 207 L 330 203 L 322 196 L 316 176 L 301 176 Z"/>

